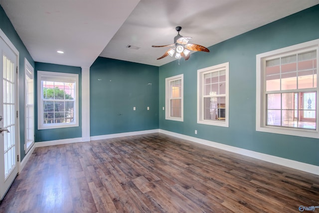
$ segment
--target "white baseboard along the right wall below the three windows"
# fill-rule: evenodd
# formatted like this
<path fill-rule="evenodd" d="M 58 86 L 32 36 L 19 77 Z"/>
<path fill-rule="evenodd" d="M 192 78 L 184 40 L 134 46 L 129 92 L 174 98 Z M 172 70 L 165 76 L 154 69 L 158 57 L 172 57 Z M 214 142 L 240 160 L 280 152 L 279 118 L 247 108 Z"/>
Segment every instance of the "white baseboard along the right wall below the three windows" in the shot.
<path fill-rule="evenodd" d="M 306 163 L 302 163 L 299 161 L 294 161 L 294 160 L 290 160 L 290 159 L 286 159 L 286 158 L 280 158 L 277 156 L 267 155 L 267 154 L 260 153 L 260 152 L 254 152 L 251 150 L 246 150 L 246 149 L 242 149 L 242 148 L 238 148 L 238 147 L 220 144 L 220 143 L 216 143 L 216 142 L 212 142 L 212 141 L 208 141 L 208 140 L 204 140 L 204 139 L 199 139 L 199 138 L 195 138 L 195 137 L 191 137 L 191 136 L 187 136 L 187 135 L 182 135 L 182 134 L 178 134 L 178 133 L 174 133 L 174 132 L 169 132 L 166 130 L 160 129 L 160 133 L 174 136 L 174 137 L 181 138 L 181 139 L 185 139 L 185 140 L 188 140 L 191 142 L 207 145 L 207 146 L 214 147 L 217 149 L 237 153 L 240 155 L 256 158 L 259 160 L 267 161 L 267 162 L 278 164 L 281 166 L 301 170 L 301 171 L 312 173 L 315 175 L 319 175 L 319 166 L 315 166 L 312 164 L 306 164 Z"/>

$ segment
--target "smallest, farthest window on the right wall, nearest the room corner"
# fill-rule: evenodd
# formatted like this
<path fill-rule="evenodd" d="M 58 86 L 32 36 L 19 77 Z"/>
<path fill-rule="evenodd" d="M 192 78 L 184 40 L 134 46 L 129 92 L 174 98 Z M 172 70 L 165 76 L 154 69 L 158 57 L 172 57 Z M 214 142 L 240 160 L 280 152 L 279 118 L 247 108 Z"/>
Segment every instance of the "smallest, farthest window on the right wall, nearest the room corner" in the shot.
<path fill-rule="evenodd" d="M 183 74 L 165 79 L 165 119 L 183 121 Z"/>

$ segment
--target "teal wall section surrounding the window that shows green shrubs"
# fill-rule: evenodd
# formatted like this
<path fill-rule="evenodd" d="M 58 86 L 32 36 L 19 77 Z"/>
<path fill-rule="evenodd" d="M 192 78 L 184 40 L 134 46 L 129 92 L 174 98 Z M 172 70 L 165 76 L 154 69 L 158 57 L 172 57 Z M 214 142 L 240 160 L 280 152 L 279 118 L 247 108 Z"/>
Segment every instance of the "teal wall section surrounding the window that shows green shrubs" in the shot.
<path fill-rule="evenodd" d="M 40 141 L 54 141 L 54 140 L 62 140 L 62 139 L 72 139 L 72 138 L 81 138 L 82 137 L 82 122 L 81 122 L 81 112 L 82 112 L 82 75 L 81 75 L 81 67 L 75 66 L 65 66 L 65 65 L 57 65 L 57 64 L 49 64 L 49 63 L 40 63 L 35 62 L 34 69 L 34 80 L 37 82 L 37 71 L 49 71 L 49 72 L 63 72 L 63 73 L 72 73 L 79 75 L 79 126 L 78 127 L 68 127 L 68 128 L 57 128 L 57 129 L 37 129 L 37 113 L 35 113 L 35 142 Z M 35 83 L 34 90 L 37 91 L 37 85 Z M 34 99 L 37 100 L 37 93 L 34 94 Z M 34 106 L 35 112 L 37 112 L 37 103 Z"/>

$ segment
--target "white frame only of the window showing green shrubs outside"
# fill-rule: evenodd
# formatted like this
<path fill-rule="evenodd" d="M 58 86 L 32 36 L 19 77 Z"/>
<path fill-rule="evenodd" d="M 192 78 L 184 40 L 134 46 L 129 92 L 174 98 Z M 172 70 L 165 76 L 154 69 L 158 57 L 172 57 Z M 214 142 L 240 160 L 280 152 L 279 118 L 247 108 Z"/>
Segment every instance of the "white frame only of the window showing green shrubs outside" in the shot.
<path fill-rule="evenodd" d="M 75 104 L 74 104 L 74 121 L 72 123 L 55 123 L 43 124 L 43 104 L 42 104 L 42 86 L 41 81 L 49 79 L 51 81 L 70 81 L 75 82 Z M 79 75 L 72 73 L 37 71 L 37 122 L 38 129 L 55 129 L 79 126 Z"/>

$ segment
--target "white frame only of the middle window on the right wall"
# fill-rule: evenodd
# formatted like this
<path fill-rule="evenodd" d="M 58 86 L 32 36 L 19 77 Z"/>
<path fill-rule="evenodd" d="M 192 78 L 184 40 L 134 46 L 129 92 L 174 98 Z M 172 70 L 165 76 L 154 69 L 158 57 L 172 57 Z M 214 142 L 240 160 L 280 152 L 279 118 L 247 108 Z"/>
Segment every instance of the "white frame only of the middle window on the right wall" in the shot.
<path fill-rule="evenodd" d="M 225 121 L 204 119 L 204 75 L 210 72 L 225 70 Z M 216 96 L 217 97 L 217 96 Z M 197 70 L 197 123 L 220 127 L 229 127 L 229 62 Z"/>

